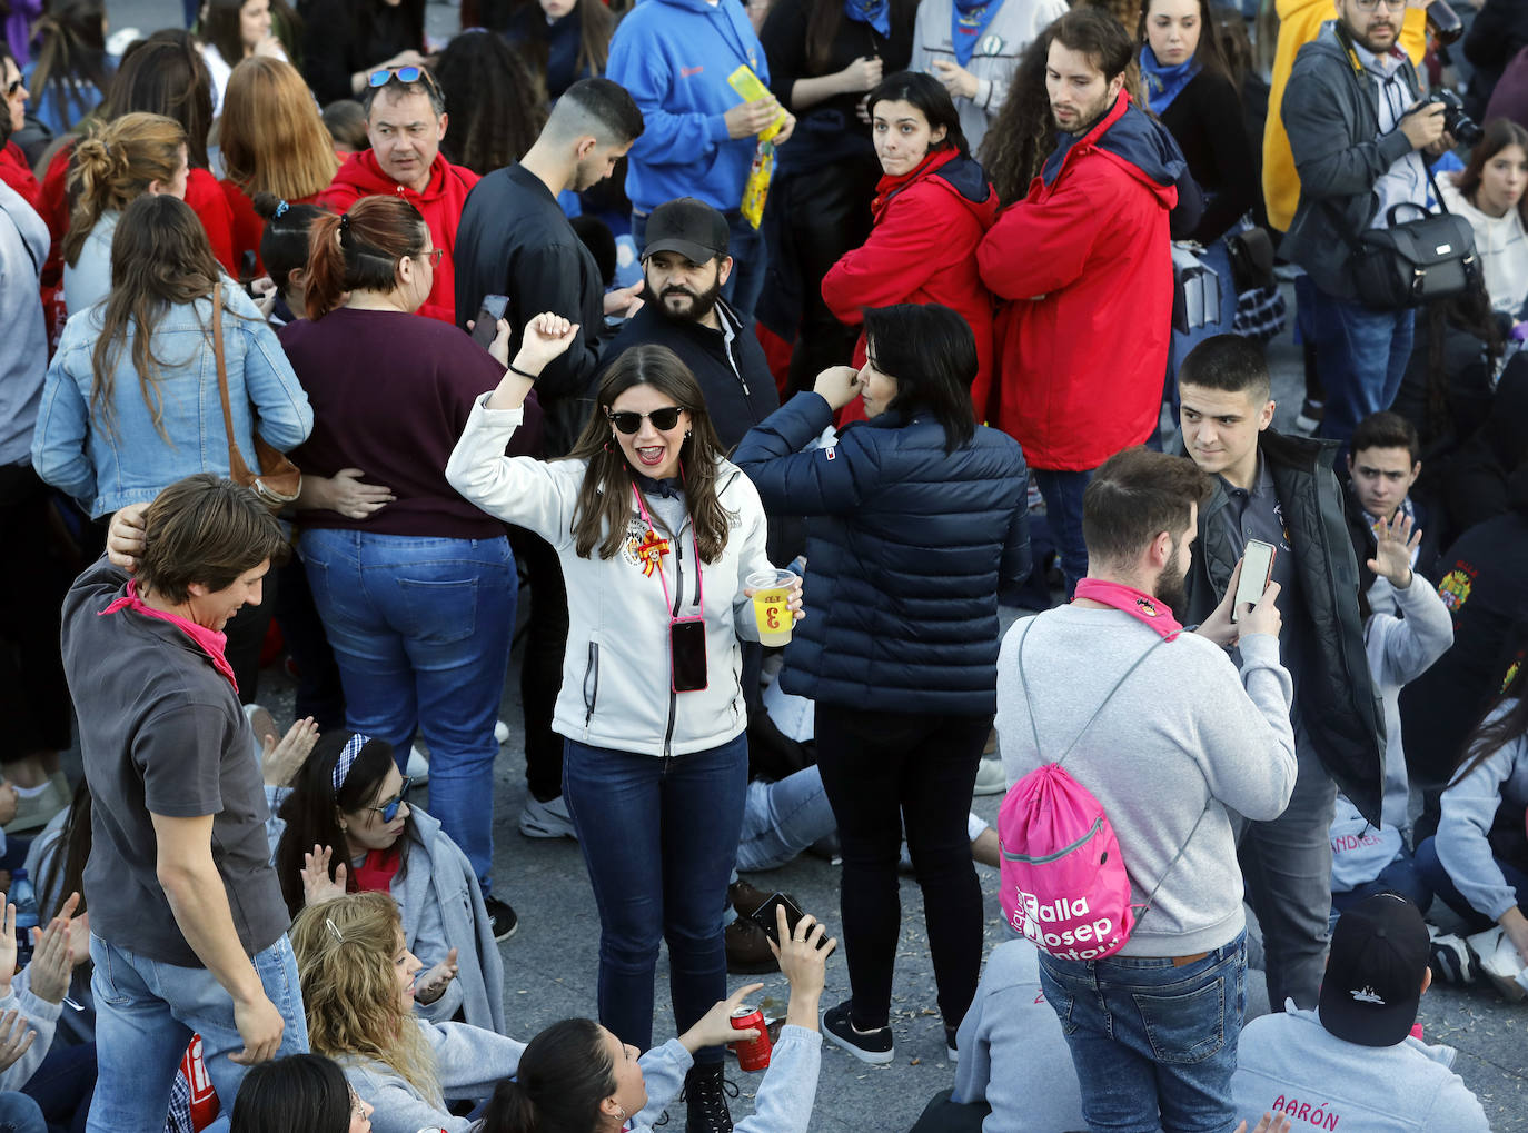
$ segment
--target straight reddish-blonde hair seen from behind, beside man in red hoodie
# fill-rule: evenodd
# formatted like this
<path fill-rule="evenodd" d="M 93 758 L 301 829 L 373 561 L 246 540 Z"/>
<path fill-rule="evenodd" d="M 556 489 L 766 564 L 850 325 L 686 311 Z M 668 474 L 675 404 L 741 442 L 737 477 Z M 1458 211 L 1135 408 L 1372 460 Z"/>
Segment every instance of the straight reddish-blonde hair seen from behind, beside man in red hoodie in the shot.
<path fill-rule="evenodd" d="M 263 55 L 234 67 L 219 124 L 223 171 L 249 197 L 312 197 L 339 168 L 324 119 L 296 67 Z"/>

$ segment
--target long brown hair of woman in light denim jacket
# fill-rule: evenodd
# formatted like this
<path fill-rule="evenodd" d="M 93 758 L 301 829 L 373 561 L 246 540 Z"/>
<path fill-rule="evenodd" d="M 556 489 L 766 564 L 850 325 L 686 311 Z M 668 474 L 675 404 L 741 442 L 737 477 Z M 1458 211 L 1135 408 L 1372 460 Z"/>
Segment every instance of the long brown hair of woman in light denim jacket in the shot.
<path fill-rule="evenodd" d="M 90 354 L 90 417 L 98 428 L 112 429 L 112 386 L 131 327 L 139 389 L 153 409 L 159 435 L 171 440 L 163 428 L 157 380 L 162 362 L 154 356 L 154 327 L 171 307 L 211 295 L 219 272 L 206 229 L 183 200 L 144 194 L 127 206 L 112 237 L 112 293 Z"/>

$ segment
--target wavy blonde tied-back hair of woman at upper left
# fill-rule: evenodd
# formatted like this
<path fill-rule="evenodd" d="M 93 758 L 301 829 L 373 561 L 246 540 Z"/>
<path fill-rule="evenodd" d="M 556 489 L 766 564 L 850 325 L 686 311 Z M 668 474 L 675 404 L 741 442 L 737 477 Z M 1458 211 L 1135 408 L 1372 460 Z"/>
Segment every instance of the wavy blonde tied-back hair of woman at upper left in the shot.
<path fill-rule="evenodd" d="M 186 131 L 163 115 L 131 113 L 96 124 L 75 147 L 69 194 L 76 197 L 64 237 L 64 260 L 79 250 L 104 212 L 121 212 L 153 182 L 170 183 L 186 163 Z"/>

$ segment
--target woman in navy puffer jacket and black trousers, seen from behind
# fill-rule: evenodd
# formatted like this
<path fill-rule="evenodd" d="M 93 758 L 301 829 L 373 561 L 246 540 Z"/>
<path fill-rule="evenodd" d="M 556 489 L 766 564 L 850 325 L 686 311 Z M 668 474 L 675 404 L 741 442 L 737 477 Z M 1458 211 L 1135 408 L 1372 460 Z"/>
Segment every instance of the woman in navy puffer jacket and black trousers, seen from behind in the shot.
<path fill-rule="evenodd" d="M 972 420 L 976 344 L 938 304 L 865 311 L 868 362 L 825 370 L 733 461 L 770 513 L 807 516 L 808 612 L 782 687 L 816 701 L 817 760 L 843 846 L 851 999 L 830 1041 L 894 1058 L 900 832 L 923 887 L 949 1044 L 976 991 L 981 889 L 966 815 L 996 707 L 998 586 L 1028 573 L 1018 443 Z M 854 397 L 868 421 L 808 447 Z"/>

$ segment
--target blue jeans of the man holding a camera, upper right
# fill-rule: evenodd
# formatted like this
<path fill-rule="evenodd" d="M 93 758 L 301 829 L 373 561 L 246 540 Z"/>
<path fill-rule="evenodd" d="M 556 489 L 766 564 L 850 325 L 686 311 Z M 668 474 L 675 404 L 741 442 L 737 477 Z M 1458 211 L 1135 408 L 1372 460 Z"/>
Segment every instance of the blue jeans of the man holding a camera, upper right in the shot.
<path fill-rule="evenodd" d="M 1326 388 L 1320 435 L 1342 441 L 1346 452 L 1358 421 L 1389 409 L 1401 388 L 1412 356 L 1412 311 L 1377 311 L 1355 299 L 1313 290 L 1316 373 Z"/>

